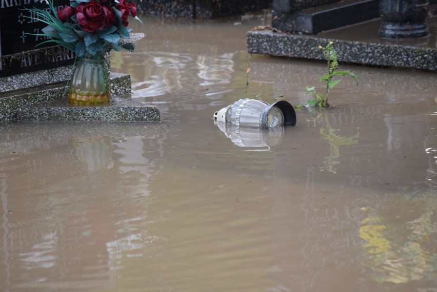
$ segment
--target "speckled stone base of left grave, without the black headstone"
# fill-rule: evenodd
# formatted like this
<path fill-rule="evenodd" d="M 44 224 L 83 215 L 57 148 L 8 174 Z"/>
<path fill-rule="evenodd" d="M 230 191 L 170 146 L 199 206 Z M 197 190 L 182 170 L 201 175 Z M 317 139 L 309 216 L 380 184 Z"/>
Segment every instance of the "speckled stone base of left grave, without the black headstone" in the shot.
<path fill-rule="evenodd" d="M 111 73 L 110 81 L 111 101 L 102 106 L 70 105 L 65 82 L 2 93 L 0 121 L 160 121 L 156 107 L 130 99 L 130 75 Z"/>

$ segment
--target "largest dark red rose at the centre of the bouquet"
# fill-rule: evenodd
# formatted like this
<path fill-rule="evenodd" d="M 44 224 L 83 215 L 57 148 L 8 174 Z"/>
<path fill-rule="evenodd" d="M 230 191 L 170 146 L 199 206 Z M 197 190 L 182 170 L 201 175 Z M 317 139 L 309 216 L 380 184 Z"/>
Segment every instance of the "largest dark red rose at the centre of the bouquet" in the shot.
<path fill-rule="evenodd" d="M 77 23 L 82 25 L 86 32 L 103 29 L 105 25 L 105 12 L 102 5 L 95 1 L 83 2 L 76 7 Z"/>

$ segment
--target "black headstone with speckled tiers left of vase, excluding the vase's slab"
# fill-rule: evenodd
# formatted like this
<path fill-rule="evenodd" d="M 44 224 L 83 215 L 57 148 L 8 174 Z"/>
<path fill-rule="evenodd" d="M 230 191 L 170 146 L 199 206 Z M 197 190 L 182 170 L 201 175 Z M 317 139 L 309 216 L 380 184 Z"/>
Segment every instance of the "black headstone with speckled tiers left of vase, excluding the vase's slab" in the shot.
<path fill-rule="evenodd" d="M 57 9 L 69 0 L 55 0 Z M 61 92 L 44 88 L 65 82 L 74 54 L 59 46 L 42 44 L 38 35 L 46 24 L 36 22 L 28 8 L 46 8 L 34 0 L 3 0 L 0 5 L 0 121 L 15 119 L 18 108 L 57 98 Z"/>

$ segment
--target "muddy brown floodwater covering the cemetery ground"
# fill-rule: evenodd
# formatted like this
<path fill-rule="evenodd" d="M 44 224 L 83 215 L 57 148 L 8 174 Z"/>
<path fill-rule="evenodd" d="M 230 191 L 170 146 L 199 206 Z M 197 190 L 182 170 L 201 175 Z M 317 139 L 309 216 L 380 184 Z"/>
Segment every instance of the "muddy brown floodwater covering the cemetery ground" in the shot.
<path fill-rule="evenodd" d="M 143 20 L 112 68 L 161 123 L 0 125 L 1 291 L 437 291 L 435 74 L 344 65 L 333 107 L 225 134 L 324 62 L 248 55 L 260 17 Z"/>

